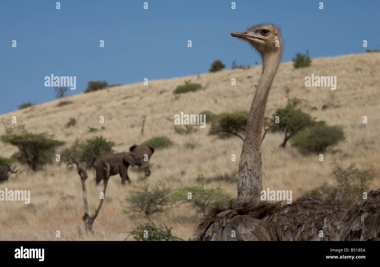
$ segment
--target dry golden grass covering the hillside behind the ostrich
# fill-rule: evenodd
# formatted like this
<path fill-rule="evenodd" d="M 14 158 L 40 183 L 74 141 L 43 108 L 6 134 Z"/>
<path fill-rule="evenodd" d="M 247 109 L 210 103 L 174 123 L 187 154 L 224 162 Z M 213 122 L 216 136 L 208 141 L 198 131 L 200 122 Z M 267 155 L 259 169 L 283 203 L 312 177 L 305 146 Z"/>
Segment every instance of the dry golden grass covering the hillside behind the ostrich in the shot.
<path fill-rule="evenodd" d="M 329 87 L 305 87 L 304 78 L 311 73 L 337 76 L 336 91 L 331 91 Z M 155 151 L 149 182 L 163 182 L 170 188 L 182 188 L 195 185 L 198 174 L 208 178 L 236 173 L 242 141 L 239 138 L 219 140 L 208 136 L 209 126 L 189 136 L 178 135 L 173 130 L 174 114 L 181 111 L 192 114 L 204 110 L 213 113 L 249 110 L 255 93 L 254 85 L 258 84 L 260 75 L 261 66 L 255 66 L 249 70 L 223 70 L 198 77 L 149 81 L 148 86 L 142 83 L 116 86 L 67 97 L 65 100 L 74 102 L 67 106 L 57 107 L 61 100 L 55 100 L 3 114 L 0 121 L 10 123 L 12 116 L 16 116 L 17 125 L 22 124 L 34 133 L 54 134 L 56 139 L 66 141 L 66 146 L 70 146 L 76 138 L 86 140 L 103 135 L 107 140 L 114 141 L 117 144 L 114 149 L 120 152 L 151 137 L 167 136 L 175 145 Z M 236 86 L 231 86 L 231 78 L 236 78 Z M 176 86 L 188 79 L 201 83 L 203 89 L 173 95 Z M 320 162 L 317 155 L 302 156 L 290 145 L 280 149 L 282 134 L 269 133 L 262 145 L 263 187 L 293 190 L 293 198 L 296 198 L 323 182 L 332 184 L 331 164 L 334 160 L 344 167 L 355 163 L 359 168 L 371 169 L 375 174 L 371 186 L 379 187 L 379 84 L 380 53 L 317 58 L 313 59 L 310 67 L 297 70 L 293 69 L 291 62 L 281 64 L 269 93 L 266 116 L 286 105 L 284 88 L 287 86 L 291 89 L 291 98 L 307 100 L 304 111 L 330 125 L 342 125 L 346 141 L 325 153 L 324 162 Z M 333 103 L 336 107 L 321 110 L 326 103 Z M 318 110 L 311 111 L 313 106 Z M 144 135 L 141 135 L 143 115 L 147 118 Z M 105 124 L 99 123 L 100 116 L 105 117 Z M 367 124 L 363 124 L 363 116 L 368 117 Z M 70 118 L 75 118 L 77 124 L 65 128 Z M 100 129 L 101 126 L 106 129 L 88 132 L 88 127 Z M 3 134 L 5 129 L 2 127 L 0 135 Z M 196 147 L 193 150 L 186 148 L 184 144 L 187 142 L 196 143 Z M 338 152 L 332 153 L 333 150 Z M 9 157 L 14 152 L 16 148 L 10 145 L 2 144 L 0 148 L 3 157 Z M 236 154 L 236 162 L 231 161 L 231 154 Z M 28 205 L 24 202 L 0 202 L 0 240 L 124 240 L 127 234 L 123 232 L 147 220 L 142 215 L 122 213 L 125 207 L 123 200 L 142 183 L 138 180 L 138 173 L 131 168 L 131 185 L 122 187 L 119 176 L 111 177 L 106 201 L 93 225 L 93 236 L 86 233 L 81 220 L 84 214 L 81 182 L 75 169 L 69 170 L 64 162 L 46 166 L 38 172 L 32 172 L 25 166 L 20 168 L 21 172 L 11 175 L 0 189 L 30 190 L 31 202 Z M 87 194 L 92 210 L 99 203 L 102 186 L 96 188 L 92 170 L 87 171 Z M 218 186 L 236 197 L 235 183 L 207 184 L 207 187 Z M 62 194 L 71 195 L 74 199 L 64 200 Z M 173 226 L 174 235 L 188 239 L 193 234 L 198 216 L 198 211 L 192 206 L 181 205 L 154 214 L 151 219 L 157 225 Z M 61 238 L 55 237 L 56 230 L 60 230 Z"/>

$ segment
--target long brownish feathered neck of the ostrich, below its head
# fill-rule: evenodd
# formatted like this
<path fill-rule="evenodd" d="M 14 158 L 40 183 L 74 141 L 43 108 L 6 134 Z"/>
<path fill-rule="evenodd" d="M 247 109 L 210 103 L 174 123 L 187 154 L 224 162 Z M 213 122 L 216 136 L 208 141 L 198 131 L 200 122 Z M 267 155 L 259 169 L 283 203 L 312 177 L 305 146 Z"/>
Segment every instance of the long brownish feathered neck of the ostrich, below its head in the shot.
<path fill-rule="evenodd" d="M 263 72 L 253 97 L 243 141 L 239 175 L 237 177 L 237 201 L 251 202 L 260 199 L 263 190 L 261 173 L 261 132 L 264 111 L 274 75 L 281 61 L 281 52 L 263 56 Z"/>

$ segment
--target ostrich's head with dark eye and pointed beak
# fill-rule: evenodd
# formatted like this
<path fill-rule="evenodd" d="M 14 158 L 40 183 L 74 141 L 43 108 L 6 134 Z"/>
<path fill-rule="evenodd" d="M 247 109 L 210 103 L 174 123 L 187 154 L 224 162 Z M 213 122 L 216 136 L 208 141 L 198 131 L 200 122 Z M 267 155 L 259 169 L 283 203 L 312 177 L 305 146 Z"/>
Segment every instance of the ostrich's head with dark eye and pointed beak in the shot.
<path fill-rule="evenodd" d="M 262 57 L 272 52 L 281 51 L 280 30 L 272 24 L 253 25 L 245 32 L 231 32 L 231 36 L 248 41 Z"/>

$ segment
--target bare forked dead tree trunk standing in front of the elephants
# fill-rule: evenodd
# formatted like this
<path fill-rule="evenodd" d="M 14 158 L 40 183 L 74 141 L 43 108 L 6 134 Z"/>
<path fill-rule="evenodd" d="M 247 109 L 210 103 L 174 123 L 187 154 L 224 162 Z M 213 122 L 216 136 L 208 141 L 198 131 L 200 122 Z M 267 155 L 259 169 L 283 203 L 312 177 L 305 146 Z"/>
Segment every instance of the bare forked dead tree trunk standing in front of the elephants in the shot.
<path fill-rule="evenodd" d="M 89 215 L 89 206 L 87 204 L 87 194 L 86 194 L 86 179 L 88 178 L 87 172 L 78 163 L 78 161 L 76 159 L 74 159 L 73 156 L 71 156 L 71 154 L 69 156 L 70 156 L 72 162 L 69 162 L 67 165 L 71 165 L 71 164 L 75 163 L 76 164 L 76 170 L 77 170 L 79 176 L 81 177 L 83 202 L 84 202 L 84 215 L 82 217 L 82 220 L 84 221 L 84 224 L 85 224 L 87 230 L 89 230 L 90 233 L 93 233 L 92 224 L 93 224 L 95 218 L 98 216 L 100 208 L 103 205 L 103 201 L 106 197 L 106 188 L 107 188 L 108 179 L 109 179 L 110 165 L 108 163 L 106 163 L 107 172 L 106 172 L 106 178 L 104 180 L 103 198 L 100 199 L 99 206 L 97 209 L 95 209 L 95 213 L 93 213 L 93 215 L 90 216 Z"/>

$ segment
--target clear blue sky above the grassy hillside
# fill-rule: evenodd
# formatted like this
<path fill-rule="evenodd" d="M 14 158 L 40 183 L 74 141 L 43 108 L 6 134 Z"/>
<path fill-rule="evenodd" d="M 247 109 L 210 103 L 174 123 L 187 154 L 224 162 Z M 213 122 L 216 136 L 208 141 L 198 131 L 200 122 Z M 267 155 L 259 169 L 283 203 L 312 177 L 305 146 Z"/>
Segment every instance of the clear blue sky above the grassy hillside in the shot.
<path fill-rule="evenodd" d="M 54 88 L 44 86 L 51 73 L 76 76 L 71 95 L 88 81 L 128 84 L 205 73 L 216 59 L 226 68 L 233 60 L 261 64 L 248 44 L 230 36 L 261 22 L 281 27 L 282 62 L 306 49 L 312 58 L 380 49 L 379 0 L 237 0 L 236 10 L 231 0 L 65 0 L 60 10 L 56 2 L 0 2 L 0 114 L 54 100 Z"/>

